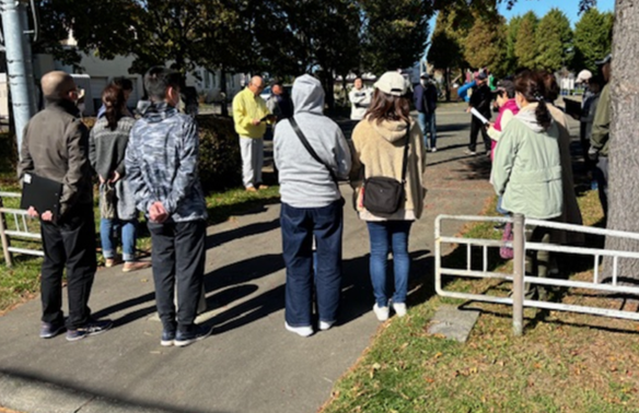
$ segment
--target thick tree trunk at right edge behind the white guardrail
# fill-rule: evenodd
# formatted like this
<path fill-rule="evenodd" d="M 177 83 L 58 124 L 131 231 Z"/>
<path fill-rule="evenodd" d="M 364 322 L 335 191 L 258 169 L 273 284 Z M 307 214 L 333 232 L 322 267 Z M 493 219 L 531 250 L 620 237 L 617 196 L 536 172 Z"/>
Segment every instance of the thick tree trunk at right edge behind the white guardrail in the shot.
<path fill-rule="evenodd" d="M 639 8 L 632 0 L 615 4 L 611 80 L 612 123 L 608 155 L 609 229 L 639 233 Z M 639 251 L 639 241 L 606 237 L 606 249 Z M 613 274 L 613 260 L 604 260 L 604 274 Z M 618 276 L 639 282 L 639 260 L 619 259 Z"/>

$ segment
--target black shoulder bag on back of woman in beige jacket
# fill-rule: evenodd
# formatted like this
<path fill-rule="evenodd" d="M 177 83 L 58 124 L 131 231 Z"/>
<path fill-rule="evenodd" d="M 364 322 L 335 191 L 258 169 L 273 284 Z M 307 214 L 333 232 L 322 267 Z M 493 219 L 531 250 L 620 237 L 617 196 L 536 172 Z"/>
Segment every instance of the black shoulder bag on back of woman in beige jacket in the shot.
<path fill-rule="evenodd" d="M 404 185 L 406 184 L 406 158 L 408 157 L 408 140 L 410 125 L 406 129 L 404 158 L 402 160 L 402 181 L 385 176 L 372 176 L 364 180 L 363 205 L 367 211 L 377 214 L 393 214 L 399 210 L 406 200 Z"/>

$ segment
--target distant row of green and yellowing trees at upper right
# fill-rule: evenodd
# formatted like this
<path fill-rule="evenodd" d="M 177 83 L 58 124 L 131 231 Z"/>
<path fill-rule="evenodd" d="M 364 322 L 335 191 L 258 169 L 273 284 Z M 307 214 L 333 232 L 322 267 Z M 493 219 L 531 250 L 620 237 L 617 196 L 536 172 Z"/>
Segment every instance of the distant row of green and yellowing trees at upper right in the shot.
<path fill-rule="evenodd" d="M 518 68 L 595 71 L 595 61 L 611 51 L 613 20 L 613 13 L 592 8 L 573 31 L 559 9 L 507 23 L 497 9 L 455 8 L 438 15 L 428 60 L 441 69 L 488 67 L 498 76 Z"/>

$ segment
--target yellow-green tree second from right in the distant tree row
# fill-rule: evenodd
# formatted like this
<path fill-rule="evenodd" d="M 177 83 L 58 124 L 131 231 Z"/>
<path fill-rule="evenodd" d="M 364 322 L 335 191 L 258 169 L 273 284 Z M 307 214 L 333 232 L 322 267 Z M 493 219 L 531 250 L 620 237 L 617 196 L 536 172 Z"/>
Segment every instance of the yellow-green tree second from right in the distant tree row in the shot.
<path fill-rule="evenodd" d="M 535 67 L 550 72 L 572 62 L 572 30 L 570 21 L 559 9 L 550 9 L 535 32 L 537 57 Z"/>

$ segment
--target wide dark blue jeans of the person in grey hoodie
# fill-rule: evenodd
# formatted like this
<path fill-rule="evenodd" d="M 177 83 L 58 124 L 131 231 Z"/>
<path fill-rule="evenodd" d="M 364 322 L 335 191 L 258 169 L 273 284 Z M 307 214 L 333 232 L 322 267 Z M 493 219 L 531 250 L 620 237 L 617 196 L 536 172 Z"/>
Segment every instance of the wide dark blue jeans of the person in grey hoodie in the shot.
<path fill-rule="evenodd" d="M 315 293 L 321 321 L 337 319 L 341 291 L 344 203 L 324 208 L 281 205 L 282 251 L 287 266 L 286 320 L 307 327 L 313 315 L 313 237 L 316 243 Z"/>

